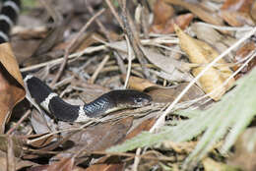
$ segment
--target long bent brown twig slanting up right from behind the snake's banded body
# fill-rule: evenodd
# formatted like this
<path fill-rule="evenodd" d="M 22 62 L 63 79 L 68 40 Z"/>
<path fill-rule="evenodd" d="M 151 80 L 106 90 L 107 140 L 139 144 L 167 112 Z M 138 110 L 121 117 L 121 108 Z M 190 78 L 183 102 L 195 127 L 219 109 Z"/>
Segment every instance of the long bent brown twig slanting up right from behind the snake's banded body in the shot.
<path fill-rule="evenodd" d="M 105 11 L 105 9 L 101 9 L 100 11 L 98 11 L 98 12 L 96 13 L 96 15 L 95 15 L 94 17 L 92 17 L 92 18 L 88 21 L 88 23 L 87 23 L 83 28 L 81 28 L 80 31 L 77 33 L 77 35 L 72 39 L 71 43 L 70 43 L 70 44 L 68 45 L 68 47 L 65 49 L 64 61 L 63 61 L 63 63 L 61 64 L 60 69 L 59 69 L 59 71 L 58 71 L 56 77 L 54 78 L 54 80 L 53 80 L 52 83 L 50 84 L 51 86 L 52 86 L 52 85 L 55 85 L 55 83 L 59 80 L 59 78 L 60 78 L 60 76 L 61 76 L 61 74 L 62 74 L 62 72 L 63 72 L 63 70 L 64 70 L 64 68 L 65 68 L 65 66 L 66 66 L 66 64 L 67 64 L 68 56 L 69 56 L 71 47 L 75 44 L 75 42 L 79 39 L 79 37 L 85 32 L 85 30 L 86 30 L 87 28 L 89 28 L 89 26 L 96 20 L 96 18 L 97 18 L 98 16 L 100 16 L 104 11 Z"/>

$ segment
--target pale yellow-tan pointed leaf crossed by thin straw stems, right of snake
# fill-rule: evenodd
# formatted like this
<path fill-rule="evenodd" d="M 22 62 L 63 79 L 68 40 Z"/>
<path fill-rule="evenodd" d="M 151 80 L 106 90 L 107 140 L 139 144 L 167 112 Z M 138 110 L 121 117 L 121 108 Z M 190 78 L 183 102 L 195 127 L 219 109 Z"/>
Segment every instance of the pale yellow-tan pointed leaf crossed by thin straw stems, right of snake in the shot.
<path fill-rule="evenodd" d="M 207 65 L 219 56 L 219 53 L 207 43 L 190 37 L 176 26 L 175 31 L 179 37 L 181 49 L 188 54 L 188 58 L 192 63 Z M 221 65 L 210 68 L 199 79 L 199 83 L 205 92 L 209 93 L 215 89 L 215 92 L 210 94 L 210 97 L 214 100 L 219 100 L 234 83 L 234 79 L 231 79 L 227 85 L 221 86 L 232 74 L 232 71 L 225 65 L 224 60 L 219 60 L 218 64 Z M 197 76 L 204 68 L 197 67 L 192 70 L 192 74 Z"/>

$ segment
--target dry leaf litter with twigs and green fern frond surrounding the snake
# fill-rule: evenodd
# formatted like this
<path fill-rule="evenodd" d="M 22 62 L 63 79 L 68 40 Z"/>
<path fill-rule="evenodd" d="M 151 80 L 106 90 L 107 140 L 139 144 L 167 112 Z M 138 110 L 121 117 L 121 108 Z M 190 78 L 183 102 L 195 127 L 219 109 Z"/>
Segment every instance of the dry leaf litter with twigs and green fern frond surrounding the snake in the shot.
<path fill-rule="evenodd" d="M 8 76 L 0 85 L 11 83 L 0 100 L 6 108 L 1 164 L 9 170 L 254 170 L 239 155 L 253 156 L 255 140 L 235 141 L 254 126 L 255 3 L 116 2 L 42 2 L 22 13 L 40 22 L 26 26 L 21 19 L 13 49 L 0 47 L 7 47 L 0 62 L 1 76 Z M 29 42 L 32 48 L 24 46 Z M 34 72 L 70 103 L 126 85 L 151 94 L 153 104 L 82 125 L 54 121 L 25 101 L 13 110 L 25 88 L 12 51 L 20 71 Z"/>

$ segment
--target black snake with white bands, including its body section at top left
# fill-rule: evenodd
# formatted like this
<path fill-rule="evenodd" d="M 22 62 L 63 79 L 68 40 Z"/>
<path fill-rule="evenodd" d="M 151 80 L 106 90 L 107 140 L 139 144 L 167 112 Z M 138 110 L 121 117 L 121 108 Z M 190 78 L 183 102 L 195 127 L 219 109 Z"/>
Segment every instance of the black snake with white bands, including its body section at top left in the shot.
<path fill-rule="evenodd" d="M 7 0 L 0 14 L 0 43 L 7 42 L 9 30 L 20 11 L 19 0 Z M 23 75 L 25 85 L 35 102 L 56 119 L 67 122 L 84 122 L 88 118 L 105 115 L 109 112 L 147 105 L 152 98 L 146 93 L 125 89 L 112 90 L 85 105 L 71 105 L 63 101 L 48 85 L 32 75 Z"/>

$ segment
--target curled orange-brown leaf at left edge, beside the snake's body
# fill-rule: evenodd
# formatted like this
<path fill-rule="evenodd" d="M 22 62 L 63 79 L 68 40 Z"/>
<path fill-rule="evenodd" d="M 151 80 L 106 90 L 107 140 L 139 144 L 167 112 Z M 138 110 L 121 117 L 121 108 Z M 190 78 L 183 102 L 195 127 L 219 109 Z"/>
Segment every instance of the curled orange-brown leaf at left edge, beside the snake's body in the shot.
<path fill-rule="evenodd" d="M 23 78 L 9 43 L 0 44 L 0 133 L 13 107 L 25 97 Z"/>

